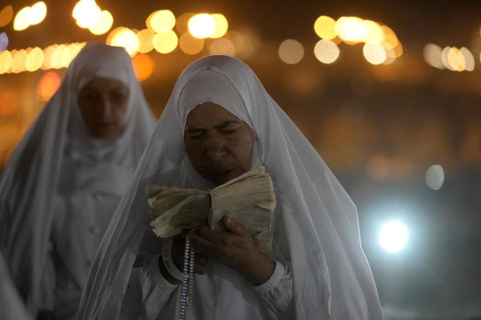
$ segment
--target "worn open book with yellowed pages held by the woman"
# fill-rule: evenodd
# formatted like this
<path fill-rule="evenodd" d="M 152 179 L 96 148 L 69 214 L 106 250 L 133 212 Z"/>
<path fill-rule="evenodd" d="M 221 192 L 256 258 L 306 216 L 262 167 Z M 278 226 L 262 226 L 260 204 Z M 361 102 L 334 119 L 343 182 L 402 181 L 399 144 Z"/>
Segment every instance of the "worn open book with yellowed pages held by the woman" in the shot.
<path fill-rule="evenodd" d="M 212 229 L 225 230 L 222 216 L 232 216 L 251 233 L 259 249 L 272 248 L 276 195 L 265 168 L 246 172 L 213 190 L 146 186 L 153 231 L 159 237 L 178 234 L 207 220 Z"/>

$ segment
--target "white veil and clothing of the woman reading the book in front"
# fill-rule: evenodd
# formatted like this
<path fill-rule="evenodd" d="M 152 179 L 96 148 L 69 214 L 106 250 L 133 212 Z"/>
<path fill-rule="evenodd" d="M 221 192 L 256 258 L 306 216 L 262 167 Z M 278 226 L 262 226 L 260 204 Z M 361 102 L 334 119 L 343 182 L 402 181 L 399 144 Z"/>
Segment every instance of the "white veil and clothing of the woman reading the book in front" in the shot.
<path fill-rule="evenodd" d="M 191 82 L 195 85 L 190 85 Z M 207 94 L 204 96 L 204 93 Z M 207 189 L 212 186 L 195 172 L 183 149 L 186 116 L 195 103 L 202 101 L 222 105 L 246 121 L 255 133 L 253 167 L 266 166 L 273 179 L 278 205 L 272 256 L 290 268 L 292 292 L 285 304 L 294 305 L 294 317 L 383 319 L 361 248 L 356 207 L 255 73 L 243 62 L 222 55 L 193 62 L 177 80 L 129 190 L 102 240 L 82 296 L 79 318 L 117 318 L 126 291 L 137 284 L 135 291 L 149 295 L 151 284 L 158 280 L 152 274 L 149 276 L 145 266 L 139 263 L 145 256 L 160 252 L 162 242 L 155 238 L 149 226 L 146 184 Z M 198 294 L 199 300 L 211 292 L 209 285 L 214 286 L 214 290 L 221 288 L 222 294 L 215 294 L 211 302 L 206 298 L 194 303 L 202 307 L 196 309 L 199 312 L 209 308 L 208 303 L 214 303 L 223 312 L 213 317 L 207 313 L 197 314 L 200 318 L 235 319 L 239 317 L 238 312 L 252 310 L 253 305 L 257 307 L 256 314 L 268 316 L 267 299 L 263 299 L 262 307 L 257 302 L 251 303 L 249 298 L 254 296 L 251 294 L 254 290 L 246 288 L 245 279 L 234 279 L 240 275 L 215 261 L 209 263 L 208 269 L 211 268 L 212 272 L 196 279 L 195 287 L 202 293 Z M 139 273 L 144 275 L 138 276 Z M 209 281 L 208 276 L 218 274 L 217 280 Z M 205 286 L 197 284 L 199 281 Z M 240 288 L 232 285 L 242 281 L 244 285 Z M 164 294 L 162 300 L 170 302 L 160 307 L 155 300 L 151 305 L 144 300 L 143 307 L 161 311 L 157 318 L 164 318 L 165 314 L 165 318 L 173 318 L 176 309 L 172 301 L 177 297 L 171 294 L 175 288 L 162 287 L 159 283 L 157 287 L 160 287 L 159 294 Z M 289 297 L 285 293 L 278 295 Z M 233 307 L 234 304 L 239 306 Z"/>

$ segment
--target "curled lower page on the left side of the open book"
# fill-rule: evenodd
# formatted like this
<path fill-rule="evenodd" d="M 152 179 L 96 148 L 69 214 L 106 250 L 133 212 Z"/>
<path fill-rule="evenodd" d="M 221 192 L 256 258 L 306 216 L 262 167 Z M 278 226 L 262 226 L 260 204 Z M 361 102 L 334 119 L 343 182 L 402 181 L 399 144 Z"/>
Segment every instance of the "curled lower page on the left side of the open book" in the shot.
<path fill-rule="evenodd" d="M 169 203 L 177 201 L 175 196 L 165 198 Z M 177 197 L 178 198 L 178 197 Z M 205 194 L 193 194 L 185 197 L 165 211 L 153 210 L 159 215 L 150 223 L 153 231 L 159 237 L 169 237 L 178 234 L 183 228 L 192 228 L 206 219 L 210 209 L 209 197 Z"/>

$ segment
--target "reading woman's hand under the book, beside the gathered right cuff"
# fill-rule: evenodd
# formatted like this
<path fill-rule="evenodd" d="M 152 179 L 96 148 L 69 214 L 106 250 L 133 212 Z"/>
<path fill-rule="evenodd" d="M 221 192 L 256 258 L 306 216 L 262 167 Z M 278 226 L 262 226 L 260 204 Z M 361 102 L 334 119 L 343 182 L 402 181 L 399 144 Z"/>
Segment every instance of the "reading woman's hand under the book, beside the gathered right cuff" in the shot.
<path fill-rule="evenodd" d="M 253 285 L 266 282 L 274 272 L 274 260 L 257 248 L 244 225 L 227 215 L 222 217 L 222 222 L 228 231 L 199 226 L 198 233 L 191 234 L 192 247 L 237 270 Z"/>

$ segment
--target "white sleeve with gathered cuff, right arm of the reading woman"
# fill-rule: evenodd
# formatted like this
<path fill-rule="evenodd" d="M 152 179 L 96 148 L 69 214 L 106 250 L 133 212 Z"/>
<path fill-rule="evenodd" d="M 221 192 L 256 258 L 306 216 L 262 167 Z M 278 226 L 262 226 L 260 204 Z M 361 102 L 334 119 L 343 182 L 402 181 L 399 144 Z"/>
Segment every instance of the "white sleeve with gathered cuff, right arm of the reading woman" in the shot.
<path fill-rule="evenodd" d="M 272 319 L 294 319 L 295 308 L 292 294 L 292 271 L 290 263 L 276 260 L 271 277 L 260 285 L 252 285 Z"/>

